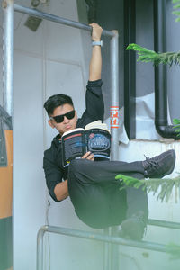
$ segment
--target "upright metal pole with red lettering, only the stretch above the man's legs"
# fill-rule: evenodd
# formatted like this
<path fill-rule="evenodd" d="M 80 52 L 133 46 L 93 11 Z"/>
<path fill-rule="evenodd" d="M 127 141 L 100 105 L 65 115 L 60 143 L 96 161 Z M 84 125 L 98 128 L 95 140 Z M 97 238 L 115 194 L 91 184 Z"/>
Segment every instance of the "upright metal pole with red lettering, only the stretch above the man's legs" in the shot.
<path fill-rule="evenodd" d="M 113 31 L 114 36 L 110 43 L 111 50 L 111 133 L 112 133 L 112 160 L 119 159 L 119 35 Z M 115 116 L 115 117 L 114 117 Z"/>

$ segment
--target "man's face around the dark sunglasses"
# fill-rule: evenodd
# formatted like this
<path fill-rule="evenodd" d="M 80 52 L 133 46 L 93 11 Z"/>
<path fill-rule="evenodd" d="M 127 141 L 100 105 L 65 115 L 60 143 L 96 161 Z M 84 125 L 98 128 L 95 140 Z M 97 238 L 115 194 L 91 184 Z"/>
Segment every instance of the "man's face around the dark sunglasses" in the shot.
<path fill-rule="evenodd" d="M 63 115 L 66 114 L 67 112 L 71 112 L 73 111 L 74 108 L 72 105 L 70 104 L 64 104 L 61 106 L 58 106 L 53 114 L 51 115 L 51 117 L 55 117 L 58 115 Z M 58 130 L 58 132 L 60 133 L 60 135 L 63 135 L 64 132 L 68 131 L 68 130 L 74 130 L 76 129 L 76 121 L 77 121 L 77 115 L 76 115 L 76 111 L 75 111 L 75 117 L 72 119 L 67 119 L 66 116 L 64 116 L 64 120 L 60 123 L 56 122 L 54 119 L 49 119 L 49 125 L 51 128 L 55 128 Z"/>

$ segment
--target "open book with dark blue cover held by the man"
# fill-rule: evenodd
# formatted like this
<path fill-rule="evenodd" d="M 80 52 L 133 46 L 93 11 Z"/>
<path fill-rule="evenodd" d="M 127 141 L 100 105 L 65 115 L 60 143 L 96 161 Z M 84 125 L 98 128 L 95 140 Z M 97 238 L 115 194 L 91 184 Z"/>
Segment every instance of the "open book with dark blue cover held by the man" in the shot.
<path fill-rule="evenodd" d="M 69 130 L 62 135 L 63 166 L 68 166 L 72 159 L 81 158 L 88 151 L 94 157 L 110 159 L 110 148 L 110 130 L 100 120 L 89 123 L 85 129 Z"/>

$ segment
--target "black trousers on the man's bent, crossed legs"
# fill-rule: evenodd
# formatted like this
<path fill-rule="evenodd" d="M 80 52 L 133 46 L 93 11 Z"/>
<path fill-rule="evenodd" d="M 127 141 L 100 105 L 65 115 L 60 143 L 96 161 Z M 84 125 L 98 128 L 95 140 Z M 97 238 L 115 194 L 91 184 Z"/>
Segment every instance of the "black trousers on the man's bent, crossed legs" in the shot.
<path fill-rule="evenodd" d="M 76 159 L 68 169 L 68 193 L 76 215 L 95 229 L 120 225 L 122 220 L 143 211 L 148 220 L 148 196 L 142 189 L 125 187 L 118 174 L 144 178 L 141 162 L 90 161 Z"/>

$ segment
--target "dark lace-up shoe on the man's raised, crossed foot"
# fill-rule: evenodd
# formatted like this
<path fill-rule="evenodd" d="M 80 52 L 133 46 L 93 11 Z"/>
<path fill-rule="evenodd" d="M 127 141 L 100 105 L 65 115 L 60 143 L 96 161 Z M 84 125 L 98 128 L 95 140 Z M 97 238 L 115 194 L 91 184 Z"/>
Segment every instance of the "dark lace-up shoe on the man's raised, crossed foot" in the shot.
<path fill-rule="evenodd" d="M 157 157 L 146 157 L 142 161 L 144 175 L 151 178 L 162 178 L 170 175 L 175 167 L 175 150 L 168 150 Z"/>

